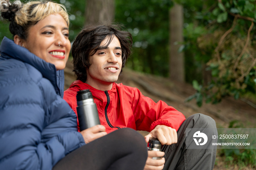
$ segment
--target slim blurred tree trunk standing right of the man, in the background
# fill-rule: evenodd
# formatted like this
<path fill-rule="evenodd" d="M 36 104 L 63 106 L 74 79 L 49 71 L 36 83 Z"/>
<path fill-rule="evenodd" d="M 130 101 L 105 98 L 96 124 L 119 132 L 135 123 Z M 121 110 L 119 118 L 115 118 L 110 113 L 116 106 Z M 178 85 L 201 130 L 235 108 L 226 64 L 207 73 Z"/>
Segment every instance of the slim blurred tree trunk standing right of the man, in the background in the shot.
<path fill-rule="evenodd" d="M 184 53 L 178 49 L 183 42 L 183 7 L 179 4 L 169 11 L 169 77 L 180 82 L 185 81 Z"/>

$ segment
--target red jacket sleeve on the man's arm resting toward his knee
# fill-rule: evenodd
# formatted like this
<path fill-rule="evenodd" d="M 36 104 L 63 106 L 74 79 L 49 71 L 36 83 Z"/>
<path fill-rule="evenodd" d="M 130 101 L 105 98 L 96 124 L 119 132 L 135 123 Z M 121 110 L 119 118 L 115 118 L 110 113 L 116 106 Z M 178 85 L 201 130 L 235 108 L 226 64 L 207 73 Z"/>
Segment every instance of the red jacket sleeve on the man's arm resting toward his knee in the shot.
<path fill-rule="evenodd" d="M 166 125 L 178 130 L 185 116 L 162 100 L 155 103 L 143 96 L 137 88 L 132 90 L 132 109 L 137 130 L 152 131 L 157 125 Z"/>

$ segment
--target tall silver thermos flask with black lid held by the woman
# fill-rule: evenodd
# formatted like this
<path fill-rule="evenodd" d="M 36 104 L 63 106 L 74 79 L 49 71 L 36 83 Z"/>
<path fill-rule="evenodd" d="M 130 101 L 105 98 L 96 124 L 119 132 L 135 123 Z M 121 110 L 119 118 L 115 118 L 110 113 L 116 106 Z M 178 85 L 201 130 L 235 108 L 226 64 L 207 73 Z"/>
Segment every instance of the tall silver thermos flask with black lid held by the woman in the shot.
<path fill-rule="evenodd" d="M 78 91 L 76 101 L 80 131 L 101 124 L 99 122 L 97 106 L 89 89 Z"/>

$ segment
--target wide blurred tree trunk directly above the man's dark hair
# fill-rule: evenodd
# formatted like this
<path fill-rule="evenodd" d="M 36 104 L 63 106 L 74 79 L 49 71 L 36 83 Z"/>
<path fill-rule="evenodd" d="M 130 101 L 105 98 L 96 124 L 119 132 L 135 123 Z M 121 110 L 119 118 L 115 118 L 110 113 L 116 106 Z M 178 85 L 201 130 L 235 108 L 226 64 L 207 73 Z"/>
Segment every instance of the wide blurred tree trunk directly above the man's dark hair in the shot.
<path fill-rule="evenodd" d="M 114 0 L 87 0 L 84 23 L 113 22 L 114 13 Z"/>

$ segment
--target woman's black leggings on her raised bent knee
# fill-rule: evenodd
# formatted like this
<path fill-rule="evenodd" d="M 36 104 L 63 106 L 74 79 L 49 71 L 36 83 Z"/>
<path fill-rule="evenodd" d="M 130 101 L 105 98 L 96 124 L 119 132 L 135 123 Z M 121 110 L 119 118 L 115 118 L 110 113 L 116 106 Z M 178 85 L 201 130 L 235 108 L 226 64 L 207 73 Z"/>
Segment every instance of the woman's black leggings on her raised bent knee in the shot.
<path fill-rule="evenodd" d="M 121 128 L 69 153 L 53 170 L 142 170 L 146 159 L 143 136 Z"/>

